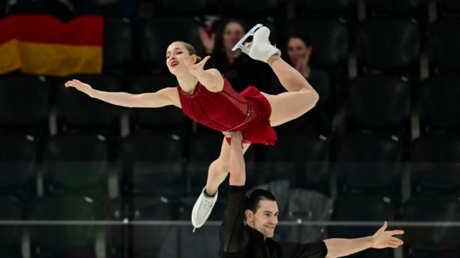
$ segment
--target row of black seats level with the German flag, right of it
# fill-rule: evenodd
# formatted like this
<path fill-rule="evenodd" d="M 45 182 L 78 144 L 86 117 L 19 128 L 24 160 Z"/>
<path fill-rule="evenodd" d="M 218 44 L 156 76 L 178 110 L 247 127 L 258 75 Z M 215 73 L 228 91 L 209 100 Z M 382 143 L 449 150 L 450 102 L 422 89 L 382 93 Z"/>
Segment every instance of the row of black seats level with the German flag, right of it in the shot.
<path fill-rule="evenodd" d="M 428 46 L 432 74 L 458 74 L 460 71 L 459 53 L 452 43 L 456 42 L 456 35 L 460 35 L 458 19 L 440 19 L 430 24 L 428 37 L 413 19 L 368 19 L 357 26 L 357 31 L 353 31 L 343 19 L 298 18 L 280 24 L 267 18 L 244 20 L 247 24 L 262 23 L 269 27 L 271 41 L 282 50 L 291 33 L 307 32 L 315 47 L 311 65 L 321 69 L 348 71 L 348 58 L 356 46 L 358 74 L 404 72 L 403 75 L 416 77 L 420 70 L 420 56 Z M 193 17 L 155 17 L 142 22 L 141 26 L 127 21 L 126 18 L 105 18 L 106 72 L 167 72 L 163 61 L 165 51 L 176 40 L 188 42 L 199 54 L 203 53 L 198 34 L 200 24 Z M 165 24 L 167 26 L 163 26 Z M 140 31 L 139 35 L 133 31 L 135 28 Z"/>

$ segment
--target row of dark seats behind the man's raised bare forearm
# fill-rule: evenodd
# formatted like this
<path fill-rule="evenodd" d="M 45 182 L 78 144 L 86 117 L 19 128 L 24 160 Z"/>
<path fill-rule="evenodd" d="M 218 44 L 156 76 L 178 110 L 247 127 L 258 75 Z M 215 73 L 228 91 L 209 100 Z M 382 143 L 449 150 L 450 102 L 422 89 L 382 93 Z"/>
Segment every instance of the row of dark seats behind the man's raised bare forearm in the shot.
<path fill-rule="evenodd" d="M 178 137 L 130 136 L 122 139 L 119 148 L 97 135 L 52 137 L 43 149 L 24 136 L 1 141 L 0 191 L 4 193 L 29 198 L 41 187 L 49 194 L 107 196 L 113 192 L 110 189 L 118 188 L 121 191 L 115 191 L 122 195 L 182 197 L 202 190 L 222 137 L 184 142 Z M 246 184 L 287 180 L 327 195 L 337 187 L 339 194 L 387 194 L 400 199 L 401 189 L 409 187 L 401 183 L 402 175 L 410 172 L 414 194 L 460 194 L 458 136 L 419 138 L 407 162 L 397 137 L 345 138 L 335 161 L 330 146 L 324 137 L 282 136 L 273 147 L 251 147 L 245 154 Z M 110 154 L 113 150 L 116 157 Z M 43 181 L 40 187 L 37 175 Z M 330 182 L 334 175 L 337 185 Z M 108 183 L 111 177 L 118 179 L 118 185 Z"/>

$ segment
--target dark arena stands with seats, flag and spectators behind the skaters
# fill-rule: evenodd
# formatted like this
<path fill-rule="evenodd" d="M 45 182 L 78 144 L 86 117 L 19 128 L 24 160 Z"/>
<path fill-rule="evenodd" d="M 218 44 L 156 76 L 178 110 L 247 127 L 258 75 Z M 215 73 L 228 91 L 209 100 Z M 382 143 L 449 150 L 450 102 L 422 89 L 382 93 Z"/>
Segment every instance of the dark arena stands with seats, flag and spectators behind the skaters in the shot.
<path fill-rule="evenodd" d="M 0 258 L 219 257 L 228 178 L 190 220 L 222 133 L 64 83 L 176 87 L 166 49 L 184 41 L 235 91 L 278 94 L 229 51 L 258 23 L 320 96 L 244 155 L 247 189 L 277 198 L 274 239 L 387 221 L 402 246 L 348 257 L 460 258 L 460 0 L 0 0 Z"/>

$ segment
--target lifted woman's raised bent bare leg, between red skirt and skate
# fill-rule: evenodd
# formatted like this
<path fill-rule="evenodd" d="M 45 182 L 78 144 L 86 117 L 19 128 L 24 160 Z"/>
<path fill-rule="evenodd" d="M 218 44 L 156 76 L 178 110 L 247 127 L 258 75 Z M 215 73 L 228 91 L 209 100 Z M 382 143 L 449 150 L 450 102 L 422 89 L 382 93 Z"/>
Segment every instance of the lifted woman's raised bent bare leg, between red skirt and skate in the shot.
<path fill-rule="evenodd" d="M 319 96 L 304 76 L 291 65 L 278 56 L 273 56 L 270 59 L 270 67 L 272 67 L 283 87 L 288 90 L 288 92 L 278 95 L 261 92 L 272 107 L 270 124 L 276 126 L 305 114 L 316 105 Z"/>

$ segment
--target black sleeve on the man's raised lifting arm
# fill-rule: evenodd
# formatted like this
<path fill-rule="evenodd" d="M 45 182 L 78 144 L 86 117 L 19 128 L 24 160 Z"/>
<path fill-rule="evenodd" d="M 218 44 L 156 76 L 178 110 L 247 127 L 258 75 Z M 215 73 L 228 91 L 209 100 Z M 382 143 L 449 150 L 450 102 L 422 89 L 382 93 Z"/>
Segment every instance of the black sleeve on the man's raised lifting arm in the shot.
<path fill-rule="evenodd" d="M 226 253 L 235 253 L 245 248 L 249 233 L 243 222 L 245 218 L 245 186 L 229 187 L 229 197 L 225 207 L 224 219 L 220 225 L 220 246 Z"/>

